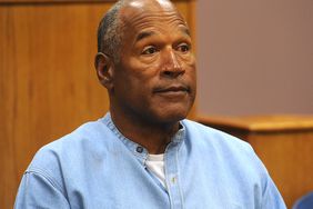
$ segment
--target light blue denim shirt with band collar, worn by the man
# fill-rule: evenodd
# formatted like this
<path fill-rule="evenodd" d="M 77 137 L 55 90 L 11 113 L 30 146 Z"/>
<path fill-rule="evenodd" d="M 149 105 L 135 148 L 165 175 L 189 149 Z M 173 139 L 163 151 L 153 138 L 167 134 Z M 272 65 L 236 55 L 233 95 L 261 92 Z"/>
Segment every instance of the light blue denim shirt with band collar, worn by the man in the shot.
<path fill-rule="evenodd" d="M 285 208 L 246 142 L 181 125 L 164 153 L 166 188 L 147 169 L 147 149 L 123 137 L 108 113 L 37 152 L 14 208 Z"/>

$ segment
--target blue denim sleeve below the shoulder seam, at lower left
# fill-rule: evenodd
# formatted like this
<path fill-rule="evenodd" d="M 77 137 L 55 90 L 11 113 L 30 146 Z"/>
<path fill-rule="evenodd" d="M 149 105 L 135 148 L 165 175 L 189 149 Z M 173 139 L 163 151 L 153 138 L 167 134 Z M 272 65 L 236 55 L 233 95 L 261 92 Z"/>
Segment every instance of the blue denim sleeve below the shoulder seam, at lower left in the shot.
<path fill-rule="evenodd" d="M 21 180 L 14 209 L 67 209 L 70 205 L 58 185 L 49 177 L 27 171 Z"/>

